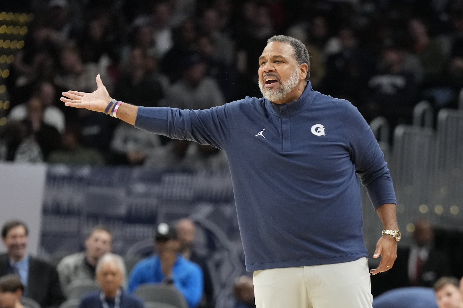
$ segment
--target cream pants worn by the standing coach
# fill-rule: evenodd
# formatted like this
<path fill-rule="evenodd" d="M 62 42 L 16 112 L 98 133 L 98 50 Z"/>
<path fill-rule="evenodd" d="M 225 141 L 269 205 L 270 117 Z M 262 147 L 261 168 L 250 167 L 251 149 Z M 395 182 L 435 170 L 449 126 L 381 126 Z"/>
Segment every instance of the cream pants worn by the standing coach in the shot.
<path fill-rule="evenodd" d="M 257 308 L 372 308 L 368 260 L 254 271 Z"/>

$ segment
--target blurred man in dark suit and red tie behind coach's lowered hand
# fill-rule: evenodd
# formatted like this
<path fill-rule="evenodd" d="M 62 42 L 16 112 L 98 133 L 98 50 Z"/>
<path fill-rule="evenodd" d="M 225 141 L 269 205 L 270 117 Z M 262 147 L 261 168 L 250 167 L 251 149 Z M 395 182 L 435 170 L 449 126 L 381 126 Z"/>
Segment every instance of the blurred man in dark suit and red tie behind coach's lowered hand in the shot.
<path fill-rule="evenodd" d="M 431 224 L 420 220 L 414 225 L 413 244 L 407 248 L 397 248 L 394 267 L 371 278 L 373 296 L 406 286 L 432 287 L 439 278 L 450 275 L 447 254 L 433 245 Z"/>

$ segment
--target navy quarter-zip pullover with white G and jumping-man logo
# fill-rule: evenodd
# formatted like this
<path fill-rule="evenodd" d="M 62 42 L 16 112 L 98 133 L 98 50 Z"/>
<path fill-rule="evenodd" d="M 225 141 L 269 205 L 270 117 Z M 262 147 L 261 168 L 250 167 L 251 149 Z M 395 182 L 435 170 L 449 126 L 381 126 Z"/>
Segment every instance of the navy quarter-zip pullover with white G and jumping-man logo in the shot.
<path fill-rule="evenodd" d="M 357 108 L 310 83 L 282 105 L 246 97 L 206 110 L 138 107 L 135 127 L 225 151 L 248 271 L 367 257 L 356 172 L 375 208 L 396 203 Z"/>

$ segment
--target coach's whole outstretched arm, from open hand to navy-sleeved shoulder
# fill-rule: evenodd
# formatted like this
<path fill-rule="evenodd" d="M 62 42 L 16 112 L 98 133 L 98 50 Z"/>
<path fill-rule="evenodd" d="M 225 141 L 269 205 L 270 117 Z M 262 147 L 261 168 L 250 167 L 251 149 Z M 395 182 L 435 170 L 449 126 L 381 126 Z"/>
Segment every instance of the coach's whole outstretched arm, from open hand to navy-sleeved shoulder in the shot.
<path fill-rule="evenodd" d="M 65 97 L 61 97 L 61 100 L 66 106 L 105 112 L 112 98 L 101 82 L 100 75 L 96 77 L 96 83 L 98 88 L 93 93 L 67 91 L 63 92 Z M 236 104 L 205 110 L 137 107 L 128 103 L 122 103 L 118 108 L 117 118 L 147 132 L 174 139 L 193 140 L 224 150 L 233 130 Z"/>

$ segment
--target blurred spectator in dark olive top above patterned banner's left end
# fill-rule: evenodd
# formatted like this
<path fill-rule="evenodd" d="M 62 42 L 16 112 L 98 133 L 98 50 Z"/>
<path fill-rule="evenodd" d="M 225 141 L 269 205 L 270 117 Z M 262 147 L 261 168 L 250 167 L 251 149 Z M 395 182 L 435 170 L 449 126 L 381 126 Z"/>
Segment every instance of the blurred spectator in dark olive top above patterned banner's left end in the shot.
<path fill-rule="evenodd" d="M 80 139 L 79 131 L 68 127 L 61 136 L 63 149 L 51 152 L 47 161 L 67 165 L 102 165 L 104 157 L 95 149 L 83 147 Z"/>

